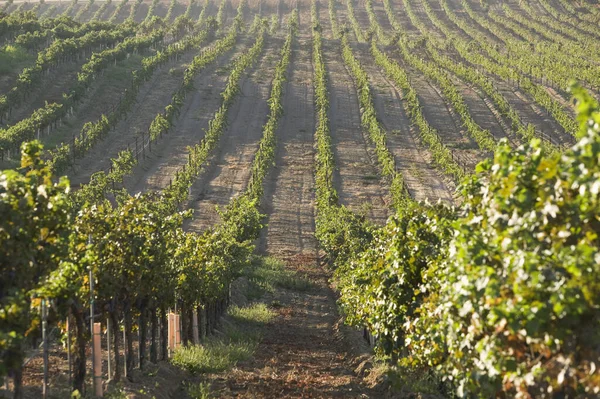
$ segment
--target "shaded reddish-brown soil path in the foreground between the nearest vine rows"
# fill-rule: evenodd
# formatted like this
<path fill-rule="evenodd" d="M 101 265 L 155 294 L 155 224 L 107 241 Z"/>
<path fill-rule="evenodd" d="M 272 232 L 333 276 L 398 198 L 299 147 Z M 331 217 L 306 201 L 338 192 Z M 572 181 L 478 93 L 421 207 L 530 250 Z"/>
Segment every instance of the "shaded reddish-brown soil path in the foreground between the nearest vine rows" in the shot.
<path fill-rule="evenodd" d="M 279 289 L 269 298 L 277 317 L 254 357 L 227 373 L 206 376 L 215 397 L 386 397 L 381 386 L 363 381 L 362 369 L 371 364 L 370 357 L 356 356 L 350 350 L 362 344 L 360 334 L 339 329 L 329 273 L 314 258 L 299 254 L 288 260 L 287 267 L 310 278 L 314 290 Z"/>

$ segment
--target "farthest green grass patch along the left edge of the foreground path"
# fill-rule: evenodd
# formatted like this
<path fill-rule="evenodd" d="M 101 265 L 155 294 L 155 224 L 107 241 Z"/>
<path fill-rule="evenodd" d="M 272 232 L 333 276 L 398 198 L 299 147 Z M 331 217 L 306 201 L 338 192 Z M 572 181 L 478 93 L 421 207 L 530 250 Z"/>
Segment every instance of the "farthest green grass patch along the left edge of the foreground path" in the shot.
<path fill-rule="evenodd" d="M 246 295 L 249 300 L 261 298 L 276 288 L 293 291 L 309 291 L 314 283 L 297 272 L 286 269 L 285 264 L 268 256 L 256 256 L 245 271 L 249 286 Z"/>

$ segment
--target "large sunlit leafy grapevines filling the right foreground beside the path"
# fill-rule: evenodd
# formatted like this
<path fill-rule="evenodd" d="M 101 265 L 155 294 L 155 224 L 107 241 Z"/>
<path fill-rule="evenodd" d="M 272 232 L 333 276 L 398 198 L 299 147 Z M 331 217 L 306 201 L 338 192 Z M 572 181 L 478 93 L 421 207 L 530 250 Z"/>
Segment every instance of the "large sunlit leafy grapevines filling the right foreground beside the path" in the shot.
<path fill-rule="evenodd" d="M 337 271 L 348 322 L 460 397 L 600 393 L 600 112 L 573 91 L 572 149 L 500 142 L 458 213 L 409 208 Z"/>

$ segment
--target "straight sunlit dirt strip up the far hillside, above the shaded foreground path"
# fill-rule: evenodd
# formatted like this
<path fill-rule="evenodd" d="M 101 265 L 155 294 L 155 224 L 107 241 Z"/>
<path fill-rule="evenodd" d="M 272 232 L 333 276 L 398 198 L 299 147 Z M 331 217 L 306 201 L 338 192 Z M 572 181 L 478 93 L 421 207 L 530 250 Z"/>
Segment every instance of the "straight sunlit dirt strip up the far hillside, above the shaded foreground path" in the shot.
<path fill-rule="evenodd" d="M 290 7 L 291 8 L 291 7 Z M 259 250 L 280 259 L 316 259 L 314 238 L 314 91 L 310 16 L 302 7 L 277 132 L 275 167 L 265 183 L 261 210 L 267 227 Z"/>

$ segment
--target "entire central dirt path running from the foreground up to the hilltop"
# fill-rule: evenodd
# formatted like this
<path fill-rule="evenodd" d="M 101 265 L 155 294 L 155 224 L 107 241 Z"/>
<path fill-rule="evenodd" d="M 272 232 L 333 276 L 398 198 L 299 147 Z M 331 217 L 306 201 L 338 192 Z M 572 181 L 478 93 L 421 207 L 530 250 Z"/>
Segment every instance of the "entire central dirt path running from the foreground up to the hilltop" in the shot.
<path fill-rule="evenodd" d="M 278 289 L 265 300 L 277 303 L 255 356 L 226 373 L 206 376 L 219 398 L 382 397 L 362 384 L 347 338 L 336 328 L 330 275 L 318 264 L 314 238 L 314 93 L 310 17 L 301 9 L 278 129 L 276 165 L 263 198 L 268 226 L 259 251 L 286 262 L 314 282 L 309 291 Z"/>

